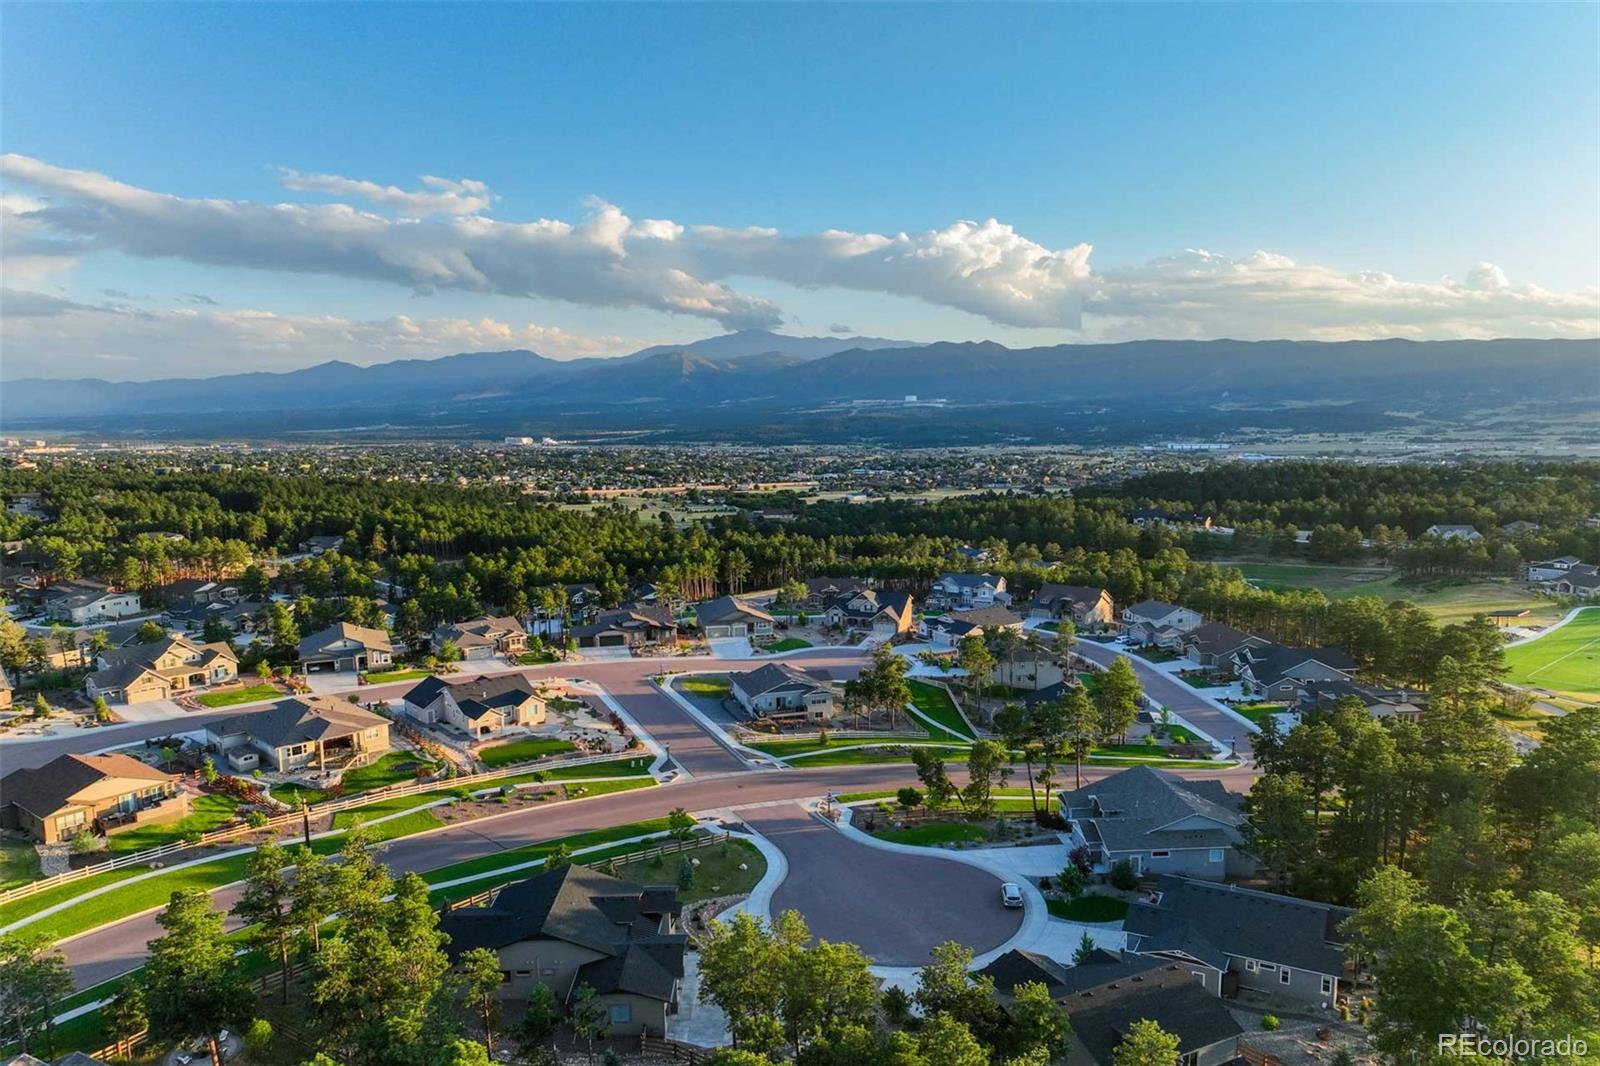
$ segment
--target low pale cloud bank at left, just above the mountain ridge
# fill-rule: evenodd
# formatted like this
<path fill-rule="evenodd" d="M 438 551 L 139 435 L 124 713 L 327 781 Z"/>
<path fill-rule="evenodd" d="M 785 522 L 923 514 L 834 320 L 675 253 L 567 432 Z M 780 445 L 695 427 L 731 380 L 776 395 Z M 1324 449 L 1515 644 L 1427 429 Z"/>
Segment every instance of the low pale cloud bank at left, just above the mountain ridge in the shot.
<path fill-rule="evenodd" d="M 94 373 L 94 363 L 131 360 L 118 378 L 293 370 L 342 359 L 378 363 L 450 352 L 531 349 L 552 359 L 616 355 L 638 344 L 536 323 L 494 319 L 392 319 L 285 315 L 254 309 L 149 311 L 85 304 L 43 293 L 0 290 L 8 378 L 61 376 L 62 367 Z"/>

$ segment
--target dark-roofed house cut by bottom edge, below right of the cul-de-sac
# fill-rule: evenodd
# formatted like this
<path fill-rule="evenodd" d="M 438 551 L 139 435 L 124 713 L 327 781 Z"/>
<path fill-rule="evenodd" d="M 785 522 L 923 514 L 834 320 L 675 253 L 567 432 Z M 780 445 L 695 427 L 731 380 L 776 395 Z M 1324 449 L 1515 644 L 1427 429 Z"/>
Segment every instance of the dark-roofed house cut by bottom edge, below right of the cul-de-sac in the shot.
<path fill-rule="evenodd" d="M 1072 1021 L 1067 1066 L 1112 1066 L 1136 1021 L 1178 1037 L 1178 1066 L 1222 1066 L 1245 1032 L 1189 967 L 1166 959 L 1096 949 L 1066 972 L 1061 988 L 1054 999 Z"/>

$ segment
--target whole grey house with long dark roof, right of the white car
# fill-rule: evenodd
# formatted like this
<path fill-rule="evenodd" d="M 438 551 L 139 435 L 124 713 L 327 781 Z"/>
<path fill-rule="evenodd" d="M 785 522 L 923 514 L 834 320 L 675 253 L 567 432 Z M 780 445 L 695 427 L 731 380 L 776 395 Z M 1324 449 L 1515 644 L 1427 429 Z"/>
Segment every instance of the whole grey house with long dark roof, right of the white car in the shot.
<path fill-rule="evenodd" d="M 1192 877 L 1157 877 L 1123 919 L 1128 951 L 1184 965 L 1213 996 L 1238 989 L 1333 1004 L 1349 908 Z M 1074 1018 L 1074 1023 L 1077 1018 Z"/>

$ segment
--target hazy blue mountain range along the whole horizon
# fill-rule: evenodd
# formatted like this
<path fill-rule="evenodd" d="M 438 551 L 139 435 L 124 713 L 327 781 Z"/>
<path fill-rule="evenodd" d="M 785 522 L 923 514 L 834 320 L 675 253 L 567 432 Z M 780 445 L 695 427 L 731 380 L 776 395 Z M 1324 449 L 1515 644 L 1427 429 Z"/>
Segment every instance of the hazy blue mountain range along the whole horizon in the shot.
<path fill-rule="evenodd" d="M 200 435 L 213 432 L 203 426 L 218 427 L 216 435 L 270 435 L 278 426 L 338 431 L 410 421 L 466 426 L 478 435 L 539 427 L 573 437 L 576 427 L 563 429 L 562 421 L 586 415 L 594 426 L 675 427 L 678 437 L 699 426 L 715 439 L 718 426 L 805 411 L 909 408 L 910 395 L 920 399 L 925 421 L 931 416 L 926 403 L 944 400 L 941 410 L 952 424 L 979 408 L 1014 405 L 1048 408 L 1053 426 L 1106 408 L 1125 416 L 1253 410 L 1272 411 L 1278 421 L 1299 411 L 1307 424 L 1325 423 L 1330 408 L 1358 421 L 1530 403 L 1590 405 L 1592 411 L 1600 402 L 1600 339 L 1131 341 L 1011 349 L 747 330 L 616 359 L 555 360 L 507 351 L 198 379 L 19 379 L 0 389 L 0 421 L 13 429 L 154 432 L 166 426 Z"/>

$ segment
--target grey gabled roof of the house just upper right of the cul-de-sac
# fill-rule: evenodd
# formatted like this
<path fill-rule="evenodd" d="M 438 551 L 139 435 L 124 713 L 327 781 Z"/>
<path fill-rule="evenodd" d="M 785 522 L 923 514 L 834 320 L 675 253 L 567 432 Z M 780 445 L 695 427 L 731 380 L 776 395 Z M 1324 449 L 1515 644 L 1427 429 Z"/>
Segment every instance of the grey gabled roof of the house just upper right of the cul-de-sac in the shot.
<path fill-rule="evenodd" d="M 1238 797 L 1221 781 L 1189 781 L 1170 770 L 1130 767 L 1104 781 L 1059 794 L 1061 808 L 1098 808 L 1093 820 L 1101 840 L 1112 852 L 1142 852 L 1173 847 L 1234 847 L 1245 823 Z M 1168 829 L 1173 823 L 1200 816 L 1214 828 Z"/>

